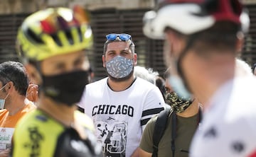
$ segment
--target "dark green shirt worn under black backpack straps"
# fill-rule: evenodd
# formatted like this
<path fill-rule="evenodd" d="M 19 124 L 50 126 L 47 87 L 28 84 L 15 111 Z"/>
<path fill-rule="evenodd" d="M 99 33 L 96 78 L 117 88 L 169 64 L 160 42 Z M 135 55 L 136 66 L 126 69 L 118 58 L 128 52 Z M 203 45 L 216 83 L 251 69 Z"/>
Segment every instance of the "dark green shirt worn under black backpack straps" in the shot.
<path fill-rule="evenodd" d="M 188 157 L 188 150 L 193 134 L 198 127 L 198 115 L 192 117 L 180 117 L 177 115 L 175 157 Z M 153 132 L 156 117 L 152 117 L 146 124 L 139 147 L 149 153 L 153 153 Z M 169 114 L 167 127 L 159 142 L 159 157 L 172 157 L 171 151 L 171 114 Z"/>

